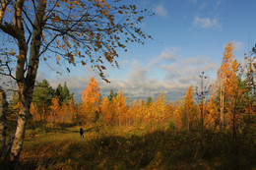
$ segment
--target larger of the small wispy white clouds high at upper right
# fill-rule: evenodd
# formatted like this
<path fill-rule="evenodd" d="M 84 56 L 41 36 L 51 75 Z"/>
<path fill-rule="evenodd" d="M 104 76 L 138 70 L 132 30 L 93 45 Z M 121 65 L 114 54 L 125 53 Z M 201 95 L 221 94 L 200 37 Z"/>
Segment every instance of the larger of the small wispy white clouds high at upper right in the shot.
<path fill-rule="evenodd" d="M 217 18 L 200 18 L 198 16 L 194 18 L 192 25 L 196 28 L 221 28 Z"/>

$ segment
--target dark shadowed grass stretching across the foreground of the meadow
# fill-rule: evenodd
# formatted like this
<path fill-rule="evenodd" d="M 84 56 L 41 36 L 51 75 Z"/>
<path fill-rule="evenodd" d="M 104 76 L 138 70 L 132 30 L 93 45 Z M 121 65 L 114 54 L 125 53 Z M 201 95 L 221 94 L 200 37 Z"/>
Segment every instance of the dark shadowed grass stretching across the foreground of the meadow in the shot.
<path fill-rule="evenodd" d="M 89 131 L 92 131 L 89 130 Z M 220 139 L 221 138 L 221 139 Z M 154 132 L 143 136 L 100 136 L 83 141 L 46 143 L 27 155 L 23 168 L 35 169 L 253 169 L 256 149 L 234 155 L 211 133 L 200 145 L 198 133 Z M 249 151 L 249 150 L 248 150 Z M 238 160 L 238 161 L 237 161 Z M 39 163 L 38 163 L 39 162 Z"/>

